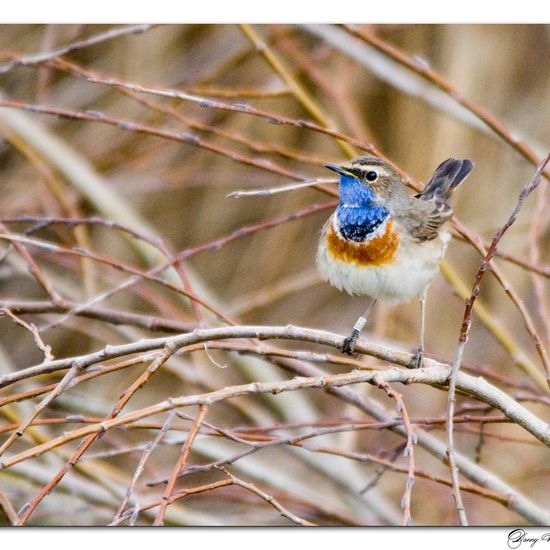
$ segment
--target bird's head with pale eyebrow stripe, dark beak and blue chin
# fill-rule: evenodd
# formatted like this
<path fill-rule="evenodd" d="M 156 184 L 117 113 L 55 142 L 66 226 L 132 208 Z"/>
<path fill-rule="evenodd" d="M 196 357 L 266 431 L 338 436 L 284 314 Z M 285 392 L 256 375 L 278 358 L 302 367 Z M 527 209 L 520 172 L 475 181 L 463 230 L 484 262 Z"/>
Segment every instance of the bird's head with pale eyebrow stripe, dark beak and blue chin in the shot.
<path fill-rule="evenodd" d="M 340 202 L 362 206 L 383 201 L 402 185 L 397 171 L 376 157 L 358 157 L 342 164 L 325 164 L 340 175 Z"/>

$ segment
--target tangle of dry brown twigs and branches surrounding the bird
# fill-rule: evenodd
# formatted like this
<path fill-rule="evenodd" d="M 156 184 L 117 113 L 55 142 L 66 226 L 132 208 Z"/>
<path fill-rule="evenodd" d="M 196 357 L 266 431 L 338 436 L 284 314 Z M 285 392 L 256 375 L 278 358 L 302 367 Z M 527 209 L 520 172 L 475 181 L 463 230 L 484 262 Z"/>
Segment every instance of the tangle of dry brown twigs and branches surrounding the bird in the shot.
<path fill-rule="evenodd" d="M 2 26 L 0 523 L 550 523 L 549 48 L 543 26 Z M 476 163 L 419 371 L 418 304 L 377 307 L 350 358 L 365 300 L 315 272 L 323 164 L 357 154 L 413 188 Z"/>

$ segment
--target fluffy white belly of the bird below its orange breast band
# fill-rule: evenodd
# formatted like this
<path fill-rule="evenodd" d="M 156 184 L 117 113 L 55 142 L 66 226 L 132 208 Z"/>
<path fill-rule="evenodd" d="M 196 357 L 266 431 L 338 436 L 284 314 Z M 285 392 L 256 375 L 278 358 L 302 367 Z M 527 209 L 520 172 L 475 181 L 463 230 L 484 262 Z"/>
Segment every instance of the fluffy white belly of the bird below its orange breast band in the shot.
<path fill-rule="evenodd" d="M 348 294 L 367 295 L 389 304 L 419 297 L 439 271 L 451 235 L 440 233 L 431 241 L 401 242 L 391 264 L 358 266 L 338 260 L 327 250 L 322 238 L 317 251 L 321 277 Z"/>

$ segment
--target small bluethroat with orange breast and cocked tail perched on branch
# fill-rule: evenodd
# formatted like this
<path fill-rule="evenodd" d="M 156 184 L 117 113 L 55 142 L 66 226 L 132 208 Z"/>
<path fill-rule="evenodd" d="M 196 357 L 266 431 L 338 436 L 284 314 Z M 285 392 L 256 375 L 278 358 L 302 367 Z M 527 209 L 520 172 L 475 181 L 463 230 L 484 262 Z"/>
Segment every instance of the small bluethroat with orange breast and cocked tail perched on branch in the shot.
<path fill-rule="evenodd" d="M 424 353 L 426 290 L 451 238 L 442 230 L 453 215 L 448 198 L 474 165 L 467 159 L 447 159 L 414 196 L 399 173 L 375 157 L 326 167 L 340 175 L 340 199 L 323 228 L 317 267 L 332 286 L 371 298 L 342 351 L 354 353 L 377 300 L 398 304 L 419 298 L 420 345 L 411 364 L 418 368 Z"/>

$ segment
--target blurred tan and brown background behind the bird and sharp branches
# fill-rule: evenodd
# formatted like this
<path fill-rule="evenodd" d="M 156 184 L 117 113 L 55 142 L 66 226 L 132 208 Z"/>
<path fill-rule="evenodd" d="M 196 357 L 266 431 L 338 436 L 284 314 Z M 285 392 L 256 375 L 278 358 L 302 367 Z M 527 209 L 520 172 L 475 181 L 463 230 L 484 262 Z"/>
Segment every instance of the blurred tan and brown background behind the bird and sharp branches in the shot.
<path fill-rule="evenodd" d="M 544 116 L 550 110 L 548 26 L 162 25 L 106 37 L 122 28 L 2 26 L 2 233 L 27 231 L 34 238 L 93 251 L 142 272 L 159 265 L 159 251 L 97 219 L 118 222 L 138 237 L 161 239 L 169 253 L 212 243 L 185 259 L 182 269 L 188 288 L 237 324 L 296 324 L 346 334 L 363 312 L 366 299 L 338 292 L 321 282 L 315 270 L 317 241 L 331 212 L 328 201 L 337 192 L 335 183 L 325 183 L 321 190 L 238 199 L 228 198 L 228 193 L 331 178 L 333 174 L 323 168 L 325 163 L 372 154 L 369 144 L 413 183 L 427 181 L 448 157 L 470 158 L 475 170 L 453 196 L 453 205 L 459 222 L 488 244 L 533 176 L 536 158 L 542 158 L 550 146 L 550 119 Z M 103 38 L 97 43 L 87 42 L 98 36 Z M 55 55 L 57 48 L 67 44 L 77 46 Z M 403 56 L 416 70 L 400 62 Z M 445 79 L 456 91 L 455 97 L 466 98 L 470 108 L 455 101 L 449 90 L 442 91 L 435 80 L 423 78 L 420 73 L 425 69 Z M 135 84 L 157 91 L 178 90 L 190 97 L 139 93 L 131 86 Z M 197 98 L 225 107 L 236 105 L 236 109 L 201 104 Z M 243 112 L 246 106 L 258 110 L 259 116 Z M 504 127 L 504 139 L 480 119 L 479 112 L 490 113 L 495 126 Z M 302 120 L 341 132 L 347 145 L 334 135 L 303 127 Z M 282 124 L 285 121 L 290 124 Z M 534 163 L 522 154 L 520 140 L 528 144 Z M 468 372 L 486 376 L 543 419 L 548 418 L 548 396 L 540 382 L 544 375 L 533 333 L 543 345 L 548 344 L 547 185 L 543 180 L 526 201 L 499 248 L 506 257 L 496 259 L 502 277 L 528 313 L 531 334 L 525 315 L 495 277 L 486 274 L 479 297 L 483 310 L 474 315 L 464 357 Z M 311 205 L 321 206 L 310 213 Z M 297 219 L 291 219 L 297 212 Z M 96 222 L 78 226 L 36 225 L 46 218 L 92 216 Z M 464 289 L 469 293 L 481 261 L 474 246 L 458 236 L 454 226 L 453 231 L 456 238 L 447 251 L 447 270 L 431 285 L 427 302 L 426 351 L 447 363 L 453 362 L 456 353 Z M 219 240 L 229 236 L 227 242 Z M 6 309 L 38 327 L 55 358 L 220 323 L 206 308 L 193 308 L 170 288 L 143 279 L 96 301 L 94 307 L 102 313 L 95 318 L 74 311 L 66 314 L 52 304 L 51 296 L 29 273 L 28 259 L 19 250 L 6 240 L 0 249 L 0 307 L 4 312 L 0 374 L 39 364 L 44 358 L 31 332 L 6 314 Z M 31 245 L 26 250 L 73 309 L 109 293 L 129 277 L 116 265 L 89 257 Z M 173 273 L 164 270 L 161 275 L 171 280 Z M 119 316 L 115 323 L 107 310 L 135 317 L 121 324 Z M 162 326 L 149 330 L 144 319 L 161 320 Z M 377 306 L 365 336 L 414 351 L 418 328 L 417 303 Z M 280 346 L 323 351 L 296 343 Z M 383 365 L 368 358 L 362 361 L 366 366 Z M 68 388 L 40 415 L 65 421 L 33 427 L 32 434 L 16 441 L 6 456 L 78 427 L 67 415 L 108 415 L 146 366 L 96 376 Z M 321 366 L 330 373 L 350 368 L 328 362 Z M 32 405 L 42 399 L 36 395 L 23 398 L 23 392 L 57 382 L 61 376 L 43 375 L 0 390 L 2 441 L 13 431 L 9 426 L 27 418 Z M 208 353 L 199 350 L 171 358 L 136 393 L 125 412 L 168 396 L 292 376 L 289 365 L 280 361 L 212 347 Z M 420 385 L 396 389 L 403 394 L 411 418 L 419 422 L 444 418 L 446 392 Z M 362 386 L 354 391 L 399 416 L 395 402 L 384 392 Z M 21 398 L 9 401 L 14 394 Z M 483 404 L 481 409 L 476 406 L 479 403 L 466 397 L 460 397 L 457 404 L 461 414 L 494 415 Z M 165 418 L 158 415 L 155 420 L 162 425 Z M 311 431 L 319 423 L 372 421 L 365 412 L 318 390 L 240 397 L 213 407 L 207 419 L 226 429 L 279 426 L 279 435 Z M 149 487 L 147 482 L 169 476 L 177 461 L 190 424 L 185 419 L 176 423 L 180 427 L 169 430 L 166 444 L 159 444 L 148 460 L 128 508 L 162 495 L 164 486 Z M 445 441 L 444 423 L 424 424 Z M 533 437 L 509 423 L 472 421 L 457 424 L 456 431 L 459 452 L 540 506 L 548 506 L 547 449 Z M 98 439 L 79 467 L 71 469 L 38 505 L 29 524 L 110 523 L 144 445 L 158 433 L 158 426 L 114 430 Z M 407 465 L 400 448 L 402 438 L 389 430 L 348 430 L 313 441 Z M 77 444 L 72 442 L 0 473 L 0 487 L 16 510 L 32 501 Z M 219 433 L 199 434 L 190 462 L 208 464 L 239 449 L 238 443 Z M 419 446 L 416 466 L 449 476 L 447 467 Z M 375 464 L 283 445 L 254 453 L 231 468 L 234 475 L 273 495 L 301 518 L 320 525 L 401 521 L 406 477 Z M 212 482 L 220 475 L 213 470 L 193 473 L 178 482 L 178 487 Z M 361 493 L 373 480 L 373 487 Z M 473 525 L 526 522 L 499 502 L 470 493 L 463 496 Z M 449 487 L 418 476 L 411 512 L 415 525 L 456 522 Z M 154 511 L 153 515 L 144 511 L 134 522 L 149 525 L 152 518 Z M 166 523 L 291 524 L 258 495 L 237 486 L 171 505 Z"/>

